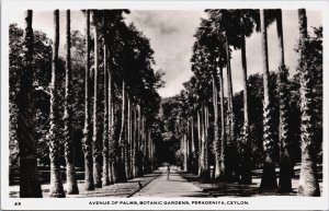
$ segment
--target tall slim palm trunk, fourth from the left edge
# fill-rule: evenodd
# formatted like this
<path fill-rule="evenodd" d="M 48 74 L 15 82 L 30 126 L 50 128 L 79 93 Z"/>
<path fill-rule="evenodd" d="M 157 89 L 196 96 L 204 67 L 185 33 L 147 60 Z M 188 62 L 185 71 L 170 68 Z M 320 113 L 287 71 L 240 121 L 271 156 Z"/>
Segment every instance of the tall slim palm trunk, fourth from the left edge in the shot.
<path fill-rule="evenodd" d="M 92 161 L 92 137 L 90 124 L 90 10 L 86 11 L 86 75 L 84 75 L 84 127 L 83 127 L 83 154 L 84 154 L 84 183 L 86 190 L 94 190 L 93 161 Z"/>

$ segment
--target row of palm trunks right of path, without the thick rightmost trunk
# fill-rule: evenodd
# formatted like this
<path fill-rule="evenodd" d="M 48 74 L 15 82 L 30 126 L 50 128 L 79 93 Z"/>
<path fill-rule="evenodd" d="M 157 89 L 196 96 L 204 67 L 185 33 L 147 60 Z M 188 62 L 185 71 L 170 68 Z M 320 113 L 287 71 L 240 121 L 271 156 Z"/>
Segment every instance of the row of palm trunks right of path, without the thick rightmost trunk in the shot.
<path fill-rule="evenodd" d="M 281 112 L 280 112 L 280 145 L 281 145 L 281 176 L 280 176 L 280 191 L 291 191 L 291 171 L 286 171 L 286 168 L 291 168 L 291 164 L 290 164 L 290 155 L 287 152 L 287 145 L 288 145 L 288 140 L 287 140 L 287 126 L 286 126 L 286 89 L 284 86 L 284 84 L 286 84 L 286 78 L 287 78 L 287 70 L 285 70 L 284 67 L 284 47 L 283 47 L 283 31 L 282 31 L 282 11 L 277 10 L 276 11 L 276 28 L 277 28 L 277 37 L 279 37 L 279 44 L 280 44 L 280 52 L 281 52 L 281 60 L 280 60 L 280 73 L 279 73 L 279 87 L 280 87 L 280 96 L 281 96 Z M 274 141 L 272 140 L 272 134 L 271 131 L 269 131 L 269 127 L 271 127 L 272 122 L 271 122 L 271 110 L 270 110 L 270 99 L 269 99 L 269 89 L 268 89 L 268 56 L 266 56 L 266 25 L 264 24 L 264 11 L 261 11 L 261 20 L 262 20 L 262 35 L 263 35 L 263 55 L 264 55 L 264 115 L 265 115 L 265 120 L 264 120 L 264 148 L 265 151 L 268 152 L 268 155 L 265 156 L 265 162 L 264 162 L 264 175 L 263 175 L 263 185 L 261 185 L 261 189 L 263 190 L 270 190 L 272 188 L 275 188 L 276 185 L 273 184 L 273 178 L 275 178 L 273 175 L 273 165 L 271 163 L 273 160 L 273 145 L 274 145 Z M 251 144 L 250 144 L 250 140 L 249 140 L 249 112 L 248 112 L 248 87 L 247 87 L 247 59 L 246 59 L 246 36 L 245 36 L 245 23 L 243 23 L 243 17 L 240 17 L 241 21 L 241 30 L 242 30 L 242 36 L 241 36 L 241 63 L 242 63 L 242 77 L 243 77 L 243 136 L 242 136 L 242 143 L 241 143 L 241 148 L 242 148 L 242 152 L 241 152 L 241 183 L 242 184 L 251 184 Z M 226 149 L 227 146 L 225 146 L 225 130 L 224 128 L 222 128 L 222 134 L 220 134 L 220 139 L 219 139 L 219 128 L 218 128 L 218 99 L 217 99 L 217 93 L 218 87 L 216 86 L 216 79 L 217 77 L 214 77 L 214 74 L 212 75 L 212 81 L 213 81 L 213 104 L 214 104 L 214 150 L 215 150 L 215 178 L 219 178 L 219 175 L 222 173 L 222 175 L 225 174 L 225 165 L 224 165 L 224 155 L 225 155 L 225 151 L 229 150 L 230 152 L 235 150 L 234 148 L 234 117 L 232 117 L 232 92 L 231 92 L 231 70 L 230 70 L 230 50 L 229 50 L 229 44 L 228 44 L 228 37 L 227 37 L 227 31 L 226 31 L 226 56 L 227 56 L 227 86 L 228 86 L 228 112 L 227 112 L 227 119 L 226 119 L 226 127 L 227 127 L 227 141 L 229 141 L 229 144 L 227 146 L 229 146 L 230 149 Z M 222 74 L 222 75 L 220 75 Z M 220 77 L 223 78 L 223 73 L 220 70 L 220 74 L 218 77 L 219 79 L 219 84 L 223 85 L 223 79 L 220 79 Z M 220 81 L 222 80 L 222 81 Z M 223 89 L 222 89 L 223 90 Z M 219 97 L 220 99 L 224 99 L 224 94 L 220 95 L 219 93 Z M 222 105 L 224 105 L 224 101 L 220 102 Z M 223 122 L 222 126 L 225 125 L 224 121 L 224 107 L 222 108 L 222 113 L 220 113 Z M 201 112 L 201 115 L 203 115 L 203 108 Z M 200 148 L 202 148 L 202 139 L 203 139 L 203 132 L 205 132 L 205 130 L 203 130 L 203 128 L 200 128 L 200 125 L 202 125 L 201 120 L 200 120 L 200 112 L 197 112 L 197 126 L 198 126 L 198 145 Z M 220 142 L 219 142 L 220 140 Z M 220 144 L 219 144 L 220 143 Z M 223 149 L 219 149 L 220 148 Z M 203 150 L 201 150 L 200 152 L 204 153 Z M 198 162 L 200 162 L 200 169 L 198 169 L 198 174 L 201 174 L 201 168 L 203 168 L 203 160 L 204 160 L 204 154 L 202 155 L 202 153 L 200 153 L 198 156 Z M 220 159 L 219 159 L 220 157 Z M 272 159 L 271 159 L 272 157 Z M 223 161 L 223 162 L 222 162 Z M 270 165 L 269 165 L 270 162 Z M 222 165 L 223 163 L 223 165 Z M 232 163 L 228 163 L 229 166 L 229 172 L 227 174 L 228 177 L 232 176 L 231 173 L 234 173 L 235 171 L 237 171 L 237 166 L 235 166 L 235 164 Z M 272 165 L 272 167 L 271 167 Z M 220 167 L 219 167 L 220 166 Z M 222 168 L 222 172 L 220 172 Z M 272 169 L 271 169 L 272 168 Z M 272 172 L 272 173 L 271 173 Z M 272 177 L 272 178 L 271 178 Z M 270 181 L 266 181 L 270 180 Z M 271 181 L 272 180 L 272 181 Z M 269 185 L 270 183 L 270 185 Z M 272 185 L 271 185 L 272 183 Z M 266 186 L 272 186 L 272 187 L 266 187 Z"/>

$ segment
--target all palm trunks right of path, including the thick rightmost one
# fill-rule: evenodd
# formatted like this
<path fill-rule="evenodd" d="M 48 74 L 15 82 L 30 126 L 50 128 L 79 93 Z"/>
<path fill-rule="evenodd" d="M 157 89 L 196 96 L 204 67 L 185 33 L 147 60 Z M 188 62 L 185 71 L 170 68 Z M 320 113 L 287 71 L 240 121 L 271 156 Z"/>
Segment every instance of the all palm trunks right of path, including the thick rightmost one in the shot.
<path fill-rule="evenodd" d="M 277 38 L 279 38 L 279 47 L 280 47 L 280 63 L 279 63 L 279 77 L 277 77 L 277 86 L 279 86 L 279 93 L 280 93 L 280 128 L 279 128 L 279 137 L 280 137 L 280 184 L 279 184 L 279 191 L 281 192 L 290 192 L 292 190 L 292 172 L 290 171 L 292 168 L 291 166 L 291 160 L 290 160 L 290 153 L 288 153 L 288 137 L 287 137 L 287 98 L 288 98 L 288 92 L 286 89 L 287 84 L 287 77 L 288 77 L 288 70 L 284 66 L 284 46 L 283 46 L 283 30 L 282 30 L 282 11 L 276 10 L 276 30 L 277 30 Z M 277 188 L 276 184 L 276 177 L 275 177 L 275 168 L 274 168 L 274 148 L 275 148 L 275 141 L 273 139 L 273 122 L 272 122 L 272 110 L 271 110 L 271 102 L 270 102 L 270 90 L 269 90 L 269 59 L 268 59 L 268 37 L 266 37 L 266 24 L 265 24 L 265 11 L 261 11 L 261 31 L 262 31 L 262 50 L 263 50 L 263 83 L 264 83 L 264 152 L 265 152 L 265 159 L 263 164 L 263 175 L 262 175 L 262 181 L 260 189 L 263 191 L 266 190 L 275 190 Z M 299 10 L 299 28 L 300 28 L 300 42 L 302 45 L 305 43 L 307 37 L 307 30 L 306 30 L 306 13 L 305 10 Z M 241 17 L 241 27 L 242 27 L 242 36 L 241 36 L 241 63 L 242 63 L 242 77 L 243 77 L 243 136 L 242 136 L 242 152 L 241 152 L 241 183 L 242 184 L 251 184 L 251 143 L 249 140 L 249 112 L 248 112 L 248 87 L 247 87 L 247 59 L 246 59 L 246 36 L 243 34 L 243 19 Z M 226 32 L 227 33 L 227 32 Z M 228 45 L 228 37 L 226 34 L 226 55 L 227 55 L 227 86 L 228 86 L 228 109 L 227 109 L 227 119 L 226 122 L 224 121 L 224 94 L 220 94 L 223 91 L 223 73 L 220 69 L 219 74 L 219 85 L 220 85 L 220 92 L 218 91 L 218 87 L 216 86 L 216 79 L 214 75 L 212 75 L 213 81 L 213 104 L 214 104 L 214 150 L 215 150 L 215 178 L 219 178 L 219 175 L 225 175 L 226 177 L 231 177 L 236 175 L 237 173 L 237 165 L 236 163 L 226 163 L 227 171 L 225 171 L 225 162 L 224 157 L 225 154 L 234 154 L 235 152 L 235 126 L 234 126 L 234 116 L 232 116 L 232 92 L 231 92 L 231 70 L 230 70 L 230 50 Z M 303 57 L 303 50 L 300 52 L 300 60 L 305 60 Z M 302 74 L 304 78 L 300 78 L 300 86 L 303 87 L 303 94 L 302 95 L 304 103 L 311 102 L 309 98 L 310 92 L 308 91 L 309 84 L 309 73 L 306 71 L 306 67 L 302 67 L 302 70 L 304 70 L 304 74 Z M 307 79 L 306 79 L 307 78 Z M 219 92 L 220 97 L 220 107 L 222 109 L 222 127 L 226 125 L 227 130 L 227 137 L 225 137 L 225 129 L 222 128 L 220 139 L 218 138 L 218 95 L 214 94 Z M 309 92 L 309 93 L 308 93 Z M 306 94 L 305 94 L 306 93 Z M 222 102 L 223 99 L 223 102 Z M 302 113 L 304 118 L 309 120 L 311 119 L 311 113 L 309 112 L 307 103 L 303 104 L 304 107 L 302 107 Z M 207 139 L 207 121 L 208 121 L 208 114 L 207 114 L 207 107 L 204 103 L 202 103 L 202 107 L 200 110 L 197 110 L 197 134 L 198 134 L 198 175 L 202 175 L 202 171 L 206 167 L 206 150 L 205 150 L 205 140 Z M 305 112 L 307 110 L 307 112 Z M 303 119 L 303 118 L 302 118 Z M 310 120 L 311 121 L 311 120 Z M 302 138 L 304 139 L 304 148 L 302 146 L 302 150 L 304 152 L 304 159 L 305 159 L 305 168 L 306 172 L 304 176 L 300 179 L 300 189 L 299 192 L 305 192 L 304 189 L 313 189 L 314 191 L 309 191 L 311 194 L 305 194 L 305 195 L 318 195 L 318 188 L 317 188 L 317 181 L 316 183 L 308 183 L 307 180 L 317 180 L 316 179 L 316 155 L 314 155 L 313 150 L 309 150 L 311 144 L 315 145 L 315 142 L 311 140 L 313 132 L 310 122 L 304 121 L 304 125 L 302 126 L 302 129 L 304 133 L 302 133 Z M 306 128 L 306 129 L 305 129 Z M 305 138 L 307 137 L 307 138 Z M 226 139 L 227 138 L 227 139 Z M 218 143 L 218 139 L 220 140 Z M 226 144 L 225 141 L 228 141 Z M 220 149 L 219 149 L 220 146 Z M 220 159 L 219 159 L 220 157 Z M 228 157 L 226 157 L 226 161 Z M 231 160 L 231 159 L 229 159 Z M 223 161 L 223 162 L 222 162 Z M 223 165 L 222 165 L 223 164 Z M 309 167 L 311 166 L 311 167 Z M 311 171 L 309 171 L 311 169 Z M 308 175 L 308 176 L 305 176 Z M 307 184 L 307 185 L 305 185 Z M 307 186 L 307 188 L 303 187 Z M 316 194 L 314 194 L 316 192 Z M 304 195 L 304 194 L 300 194 Z"/>

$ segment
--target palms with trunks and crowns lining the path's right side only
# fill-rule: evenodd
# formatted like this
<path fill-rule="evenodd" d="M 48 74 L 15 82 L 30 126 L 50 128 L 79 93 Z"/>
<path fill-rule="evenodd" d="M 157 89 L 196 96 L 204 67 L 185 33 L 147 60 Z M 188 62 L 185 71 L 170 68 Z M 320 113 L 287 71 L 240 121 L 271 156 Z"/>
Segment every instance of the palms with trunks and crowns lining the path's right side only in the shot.
<path fill-rule="evenodd" d="M 263 78 L 263 112 L 262 112 L 262 175 L 260 191 L 292 191 L 292 161 L 290 157 L 291 137 L 288 122 L 288 68 L 284 62 L 284 40 L 282 26 L 282 11 L 276 10 L 206 10 L 208 19 L 203 19 L 195 34 L 193 47 L 192 71 L 194 75 L 188 81 L 182 91 L 183 107 L 186 109 L 182 118 L 186 122 L 185 132 L 191 137 L 192 145 L 197 145 L 197 174 L 200 177 L 214 177 L 216 180 L 239 181 L 251 184 L 252 137 L 250 134 L 250 108 L 247 85 L 247 55 L 246 38 L 252 33 L 261 33 L 262 42 L 262 78 Z M 297 12 L 297 11 L 296 11 Z M 315 85 L 311 68 L 307 61 L 307 17 L 305 9 L 298 10 L 299 19 L 299 93 L 300 93 L 300 148 L 302 166 L 299 176 L 298 195 L 319 196 L 317 178 L 317 146 L 315 138 L 315 113 L 311 106 L 315 99 L 311 90 Z M 273 90 L 270 89 L 269 52 L 268 52 L 268 26 L 276 24 L 280 61 L 277 63 L 276 92 L 279 93 L 279 114 L 274 113 L 274 104 L 271 102 Z M 240 49 L 242 65 L 242 126 L 237 126 L 237 117 L 234 113 L 232 71 L 230 66 L 231 49 Z M 224 79 L 224 71 L 226 79 Z M 321 70 L 320 70 L 321 71 Z M 226 87 L 224 86 L 226 85 Z M 251 84 L 253 85 L 253 84 Z M 224 91 L 227 91 L 227 97 Z M 261 114 L 253 114 L 261 115 Z M 275 128 L 274 119 L 279 119 Z M 211 120 L 209 120 L 211 119 Z M 198 143 L 193 140 L 194 125 Z M 241 130 L 240 140 L 238 133 Z M 275 138 L 275 131 L 279 133 Z M 212 133 L 212 134 L 211 134 Z M 212 139 L 209 138 L 212 137 Z M 211 140 L 209 140 L 211 139 Z M 182 139 L 182 151 L 191 153 L 191 141 Z M 188 148 L 186 148 L 188 146 Z M 277 152 L 279 151 L 279 152 Z M 214 154 L 212 165 L 214 175 L 209 175 L 211 154 Z M 275 175 L 275 154 L 279 153 L 280 177 L 279 184 Z M 184 168 L 188 159 L 184 157 Z M 238 159 L 240 157 L 240 159 Z M 192 167 L 191 167 L 192 168 Z M 190 168 L 190 169 L 191 169 Z"/>

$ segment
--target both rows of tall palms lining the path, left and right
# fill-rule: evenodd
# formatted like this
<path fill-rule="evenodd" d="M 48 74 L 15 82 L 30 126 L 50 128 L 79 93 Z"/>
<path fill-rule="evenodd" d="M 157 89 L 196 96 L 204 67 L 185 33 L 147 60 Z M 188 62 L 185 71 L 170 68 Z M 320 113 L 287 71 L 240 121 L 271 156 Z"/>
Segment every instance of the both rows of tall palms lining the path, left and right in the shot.
<path fill-rule="evenodd" d="M 52 46 L 43 46 L 47 42 L 37 42 L 48 39 L 33 31 L 32 10 L 25 13 L 25 28 L 14 31 L 22 34 L 23 47 L 12 48 L 10 57 L 11 71 L 15 72 L 10 77 L 16 79 L 10 82 L 10 112 L 13 116 L 11 124 L 16 128 L 22 198 L 43 197 L 38 178 L 41 148 L 49 163 L 49 196 L 56 198 L 79 194 L 76 172 L 76 153 L 79 151 L 82 151 L 86 190 L 126 183 L 161 164 L 159 154 L 163 153 L 164 145 L 162 127 L 167 121 L 160 114 L 163 99 L 157 90 L 163 85 L 163 73 L 154 70 L 154 50 L 149 39 L 133 24 L 126 25 L 123 21 L 128 10 L 81 12 L 86 19 L 86 34 L 71 31 L 71 13 L 67 10 L 66 36 L 59 37 L 59 10 L 54 11 Z M 183 171 L 197 174 L 200 179 L 243 185 L 252 183 L 254 165 L 251 159 L 254 152 L 250 110 L 254 109 L 250 107 L 246 39 L 253 33 L 261 33 L 262 110 L 256 114 L 262 120 L 263 149 L 258 152 L 262 161 L 259 188 L 260 191 L 291 192 L 294 167 L 290 150 L 291 94 L 282 11 L 205 12 L 207 19 L 202 19 L 196 28 L 192 49 L 193 77 L 184 83 L 184 90 L 178 97 L 183 112 L 174 119 L 174 127 L 180 133 L 178 151 L 182 153 Z M 322 70 L 314 70 L 315 65 L 310 61 L 314 55 L 309 55 L 308 49 L 306 10 L 299 9 L 296 13 L 299 21 L 297 95 L 300 97 L 300 144 L 296 146 L 300 150 L 298 195 L 320 196 L 317 163 L 321 143 L 315 134 L 317 98 L 314 95 L 314 72 Z M 266 30 L 271 24 L 276 26 L 281 54 L 275 81 L 279 113 L 274 113 L 270 85 Z M 60 39 L 66 40 L 65 58 L 59 57 Z M 12 42 L 11 46 L 19 44 Z M 238 121 L 241 116 L 235 112 L 231 48 L 241 51 L 242 124 Z M 21 59 L 19 55 L 23 55 Z M 42 55 L 49 66 L 44 61 L 44 67 L 39 68 L 37 55 Z M 15 69 L 16 62 L 22 62 L 23 68 Z M 46 69 L 49 71 L 43 72 Z M 37 101 L 39 93 L 47 102 L 42 106 Z M 44 114 L 37 116 L 35 110 Z M 42 117 L 44 120 L 39 120 Z M 274 122 L 275 119 L 279 124 Z M 43 121 L 43 127 L 36 127 L 37 121 Z M 80 134 L 75 131 L 80 131 Z M 80 139 L 80 145 L 76 143 L 77 139 Z M 280 166 L 279 184 L 276 163 Z M 211 175 L 213 167 L 214 174 Z M 67 184 L 66 189 L 64 183 Z"/>

